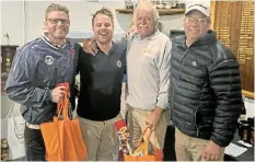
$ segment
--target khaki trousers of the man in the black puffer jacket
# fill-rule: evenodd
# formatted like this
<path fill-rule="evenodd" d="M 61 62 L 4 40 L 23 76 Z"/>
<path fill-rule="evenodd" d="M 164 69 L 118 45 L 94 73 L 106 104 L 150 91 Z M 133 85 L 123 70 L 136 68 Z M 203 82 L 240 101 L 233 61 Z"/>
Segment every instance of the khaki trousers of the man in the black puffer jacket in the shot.
<path fill-rule="evenodd" d="M 201 150 L 209 140 L 189 137 L 175 127 L 175 152 L 177 161 L 204 161 L 201 159 Z M 223 161 L 224 148 L 220 150 L 218 161 Z"/>

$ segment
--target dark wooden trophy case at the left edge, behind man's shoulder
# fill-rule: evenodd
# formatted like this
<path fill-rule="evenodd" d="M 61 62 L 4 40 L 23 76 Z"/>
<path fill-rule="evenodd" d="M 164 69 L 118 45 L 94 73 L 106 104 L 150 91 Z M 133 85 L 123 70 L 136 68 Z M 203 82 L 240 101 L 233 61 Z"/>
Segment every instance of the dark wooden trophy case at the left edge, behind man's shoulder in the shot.
<path fill-rule="evenodd" d="M 16 45 L 1 45 L 1 92 L 4 90 L 8 73 L 18 47 Z"/>

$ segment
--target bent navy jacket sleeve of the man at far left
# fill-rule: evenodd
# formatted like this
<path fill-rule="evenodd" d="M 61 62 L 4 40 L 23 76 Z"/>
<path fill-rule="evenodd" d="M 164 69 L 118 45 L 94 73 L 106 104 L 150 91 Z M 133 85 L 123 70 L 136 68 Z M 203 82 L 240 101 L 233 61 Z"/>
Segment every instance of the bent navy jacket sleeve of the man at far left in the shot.
<path fill-rule="evenodd" d="M 16 51 L 8 76 L 5 94 L 22 105 L 40 108 L 51 102 L 51 90 L 33 85 L 36 60 L 31 50 L 31 46 L 26 45 Z"/>

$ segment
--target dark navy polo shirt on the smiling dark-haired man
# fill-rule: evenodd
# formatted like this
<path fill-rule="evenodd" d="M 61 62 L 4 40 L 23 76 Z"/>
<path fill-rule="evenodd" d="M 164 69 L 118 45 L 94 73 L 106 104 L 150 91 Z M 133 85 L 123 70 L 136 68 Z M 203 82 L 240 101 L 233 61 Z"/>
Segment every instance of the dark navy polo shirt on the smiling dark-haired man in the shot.
<path fill-rule="evenodd" d="M 108 120 L 120 112 L 121 82 L 126 69 L 126 44 L 113 43 L 108 54 L 81 54 L 80 96 L 77 113 L 90 120 Z"/>

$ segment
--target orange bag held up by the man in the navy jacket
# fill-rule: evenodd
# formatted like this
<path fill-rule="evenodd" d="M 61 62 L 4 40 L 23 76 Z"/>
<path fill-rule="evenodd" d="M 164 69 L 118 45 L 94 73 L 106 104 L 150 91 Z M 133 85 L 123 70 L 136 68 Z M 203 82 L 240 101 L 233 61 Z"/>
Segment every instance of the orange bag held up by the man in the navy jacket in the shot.
<path fill-rule="evenodd" d="M 67 95 L 58 103 L 57 115 L 51 123 L 40 125 L 47 161 L 79 161 L 86 160 L 86 147 L 82 139 L 78 118 L 70 118 L 69 84 L 66 86 Z"/>

